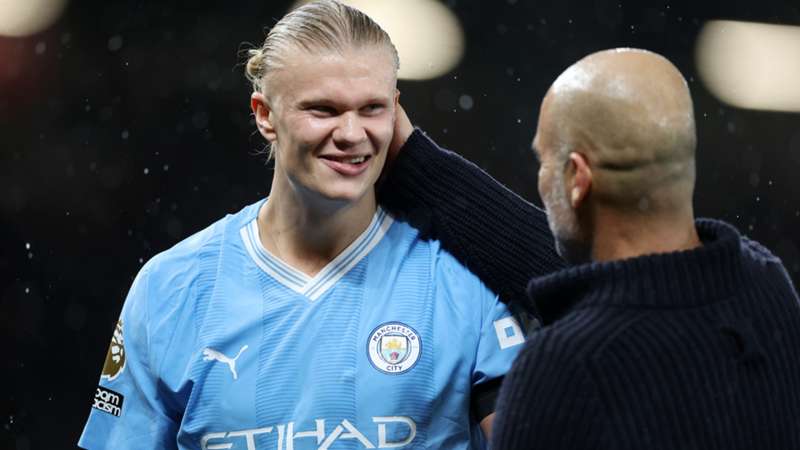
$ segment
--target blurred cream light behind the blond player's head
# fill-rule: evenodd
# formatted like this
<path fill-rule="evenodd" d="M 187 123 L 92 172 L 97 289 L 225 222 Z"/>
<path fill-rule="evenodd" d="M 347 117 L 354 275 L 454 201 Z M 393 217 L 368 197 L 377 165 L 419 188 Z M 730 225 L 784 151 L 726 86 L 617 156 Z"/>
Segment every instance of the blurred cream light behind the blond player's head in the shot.
<path fill-rule="evenodd" d="M 2 1 L 2 0 L 0 0 Z M 309 3 L 300 1 L 295 7 Z M 398 78 L 427 80 L 453 70 L 464 54 L 458 18 L 435 0 L 341 0 L 363 11 L 392 38 L 400 55 Z"/>

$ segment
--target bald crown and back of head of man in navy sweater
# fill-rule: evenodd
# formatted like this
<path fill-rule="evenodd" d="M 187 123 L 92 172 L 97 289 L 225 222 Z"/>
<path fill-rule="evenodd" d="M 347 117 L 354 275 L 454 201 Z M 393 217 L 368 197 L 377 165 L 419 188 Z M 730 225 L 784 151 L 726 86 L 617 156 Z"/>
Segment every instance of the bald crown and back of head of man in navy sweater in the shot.
<path fill-rule="evenodd" d="M 592 195 L 653 211 L 691 202 L 696 145 L 686 80 L 655 53 L 607 50 L 578 61 L 542 103 L 536 145 L 592 169 Z"/>

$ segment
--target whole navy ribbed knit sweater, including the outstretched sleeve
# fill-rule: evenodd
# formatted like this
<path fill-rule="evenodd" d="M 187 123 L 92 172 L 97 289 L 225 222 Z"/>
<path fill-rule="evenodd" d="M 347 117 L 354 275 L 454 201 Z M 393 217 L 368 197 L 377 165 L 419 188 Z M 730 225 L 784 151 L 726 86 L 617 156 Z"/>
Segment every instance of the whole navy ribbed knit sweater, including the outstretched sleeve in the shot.
<path fill-rule="evenodd" d="M 381 193 L 524 301 L 559 269 L 541 210 L 416 131 Z M 493 448 L 800 449 L 800 307 L 780 261 L 722 222 L 698 249 L 539 276 L 545 327 L 504 382 Z"/>

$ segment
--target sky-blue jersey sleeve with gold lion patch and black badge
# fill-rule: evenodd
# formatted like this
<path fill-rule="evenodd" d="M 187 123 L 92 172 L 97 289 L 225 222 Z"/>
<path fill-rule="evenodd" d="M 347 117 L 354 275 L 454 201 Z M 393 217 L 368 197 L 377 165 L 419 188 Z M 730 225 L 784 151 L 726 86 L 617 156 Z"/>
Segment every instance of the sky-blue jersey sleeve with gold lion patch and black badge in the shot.
<path fill-rule="evenodd" d="M 79 446 L 94 449 L 176 448 L 177 424 L 159 399 L 150 351 L 145 266 L 133 282 L 103 365 Z"/>

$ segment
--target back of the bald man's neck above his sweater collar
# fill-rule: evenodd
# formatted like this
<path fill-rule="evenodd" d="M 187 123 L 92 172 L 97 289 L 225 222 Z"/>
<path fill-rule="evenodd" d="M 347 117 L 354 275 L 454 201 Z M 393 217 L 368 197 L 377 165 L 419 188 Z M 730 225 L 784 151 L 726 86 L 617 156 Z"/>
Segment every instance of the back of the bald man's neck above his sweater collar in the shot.
<path fill-rule="evenodd" d="M 598 214 L 592 239 L 592 259 L 612 261 L 689 250 L 700 245 L 691 210 L 678 217 Z"/>

